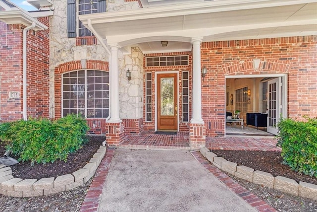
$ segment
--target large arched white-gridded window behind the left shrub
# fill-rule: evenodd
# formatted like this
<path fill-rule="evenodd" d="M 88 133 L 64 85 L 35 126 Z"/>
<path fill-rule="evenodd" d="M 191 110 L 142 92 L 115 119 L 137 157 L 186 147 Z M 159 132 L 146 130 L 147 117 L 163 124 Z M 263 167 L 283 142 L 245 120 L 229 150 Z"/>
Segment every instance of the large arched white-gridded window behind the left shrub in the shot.
<path fill-rule="evenodd" d="M 62 116 L 69 113 L 86 118 L 109 115 L 109 72 L 79 70 L 62 76 Z"/>

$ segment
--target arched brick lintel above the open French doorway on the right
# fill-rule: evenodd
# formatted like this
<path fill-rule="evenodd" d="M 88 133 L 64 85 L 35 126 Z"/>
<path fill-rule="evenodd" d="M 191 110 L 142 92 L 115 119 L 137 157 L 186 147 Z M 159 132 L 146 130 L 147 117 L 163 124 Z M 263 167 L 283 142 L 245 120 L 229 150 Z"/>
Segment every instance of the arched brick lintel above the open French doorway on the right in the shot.
<path fill-rule="evenodd" d="M 245 74 L 272 74 L 272 73 L 289 73 L 291 65 L 287 62 L 276 61 L 260 61 L 259 69 L 253 68 L 253 60 L 248 60 L 243 63 L 224 65 L 224 75 L 245 75 Z"/>

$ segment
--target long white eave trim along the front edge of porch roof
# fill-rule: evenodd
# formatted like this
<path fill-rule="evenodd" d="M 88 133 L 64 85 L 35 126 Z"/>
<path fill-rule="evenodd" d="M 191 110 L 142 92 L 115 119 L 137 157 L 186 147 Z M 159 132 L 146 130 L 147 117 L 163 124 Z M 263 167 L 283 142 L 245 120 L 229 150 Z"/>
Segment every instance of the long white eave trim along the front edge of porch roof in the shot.
<path fill-rule="evenodd" d="M 225 0 L 206 1 L 196 4 L 176 4 L 168 6 L 148 7 L 113 12 L 102 12 L 79 15 L 79 19 L 87 26 L 87 20 L 92 24 L 111 23 L 117 21 L 142 20 L 149 18 L 171 17 L 178 15 L 191 15 L 198 13 L 222 12 L 263 7 L 276 7 L 293 4 L 312 3 L 312 0 Z"/>

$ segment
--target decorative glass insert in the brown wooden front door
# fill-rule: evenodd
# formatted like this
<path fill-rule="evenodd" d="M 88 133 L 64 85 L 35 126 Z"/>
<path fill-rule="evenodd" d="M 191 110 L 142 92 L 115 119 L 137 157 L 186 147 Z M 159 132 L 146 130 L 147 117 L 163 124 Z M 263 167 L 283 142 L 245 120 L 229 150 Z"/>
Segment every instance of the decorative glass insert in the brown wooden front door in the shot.
<path fill-rule="evenodd" d="M 174 115 L 174 78 L 164 77 L 160 79 L 160 115 Z"/>

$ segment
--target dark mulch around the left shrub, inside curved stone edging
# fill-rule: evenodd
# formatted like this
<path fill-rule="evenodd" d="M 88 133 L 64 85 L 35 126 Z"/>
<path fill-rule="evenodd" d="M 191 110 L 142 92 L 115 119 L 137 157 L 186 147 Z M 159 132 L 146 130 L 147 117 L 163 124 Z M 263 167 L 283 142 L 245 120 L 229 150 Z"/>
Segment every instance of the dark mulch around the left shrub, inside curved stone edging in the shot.
<path fill-rule="evenodd" d="M 64 174 L 70 174 L 84 167 L 93 157 L 105 137 L 88 137 L 89 141 L 77 152 L 70 153 L 67 161 L 56 160 L 53 163 L 34 164 L 31 167 L 30 162 L 20 162 L 10 166 L 12 175 L 21 179 L 41 179 L 47 177 L 57 177 Z M 3 155 L 5 148 L 0 142 L 0 155 Z M 10 155 L 11 156 L 11 155 Z M 14 156 L 12 156 L 15 158 Z M 16 158 L 15 158 L 16 159 Z"/>

